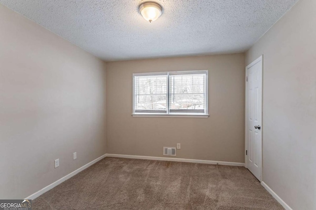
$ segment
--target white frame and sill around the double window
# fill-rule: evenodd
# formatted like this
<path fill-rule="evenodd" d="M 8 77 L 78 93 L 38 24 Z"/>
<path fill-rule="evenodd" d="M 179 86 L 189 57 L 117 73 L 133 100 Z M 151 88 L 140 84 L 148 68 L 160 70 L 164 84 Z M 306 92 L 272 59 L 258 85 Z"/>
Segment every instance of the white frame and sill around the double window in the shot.
<path fill-rule="evenodd" d="M 181 75 L 181 74 L 205 74 L 205 90 L 204 90 L 204 113 L 171 113 L 170 114 L 170 75 Z M 141 113 L 135 112 L 135 77 L 137 76 L 159 76 L 166 75 L 167 76 L 167 92 L 166 92 L 166 105 L 167 111 L 166 113 Z M 146 73 L 133 73 L 133 88 L 132 88 L 132 116 L 133 117 L 178 117 L 178 118 L 208 118 L 208 70 L 190 70 L 190 71 L 163 71 L 163 72 L 146 72 Z"/>

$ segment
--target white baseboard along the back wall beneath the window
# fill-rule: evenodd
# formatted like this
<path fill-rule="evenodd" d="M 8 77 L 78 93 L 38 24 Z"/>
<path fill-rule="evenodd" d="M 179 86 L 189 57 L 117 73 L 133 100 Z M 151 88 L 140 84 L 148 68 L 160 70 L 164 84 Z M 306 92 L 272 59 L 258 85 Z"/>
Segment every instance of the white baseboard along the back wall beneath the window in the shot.
<path fill-rule="evenodd" d="M 226 165 L 226 166 L 245 166 L 244 163 L 223 162 L 223 161 L 213 161 L 213 160 L 195 160 L 195 159 L 184 159 L 184 158 L 174 158 L 174 157 L 153 157 L 153 156 L 139 156 L 139 155 L 127 155 L 127 154 L 105 154 L 105 155 L 107 157 L 122 157 L 122 158 L 132 158 L 132 159 L 204 163 L 204 164 L 215 164 L 215 165 Z"/>

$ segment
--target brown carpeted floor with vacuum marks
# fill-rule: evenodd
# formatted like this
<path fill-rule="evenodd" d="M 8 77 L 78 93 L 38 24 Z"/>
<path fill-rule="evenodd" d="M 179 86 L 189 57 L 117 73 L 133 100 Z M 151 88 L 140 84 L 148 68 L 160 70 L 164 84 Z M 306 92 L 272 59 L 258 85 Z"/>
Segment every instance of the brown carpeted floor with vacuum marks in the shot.
<path fill-rule="evenodd" d="M 33 210 L 283 210 L 244 167 L 106 157 Z"/>

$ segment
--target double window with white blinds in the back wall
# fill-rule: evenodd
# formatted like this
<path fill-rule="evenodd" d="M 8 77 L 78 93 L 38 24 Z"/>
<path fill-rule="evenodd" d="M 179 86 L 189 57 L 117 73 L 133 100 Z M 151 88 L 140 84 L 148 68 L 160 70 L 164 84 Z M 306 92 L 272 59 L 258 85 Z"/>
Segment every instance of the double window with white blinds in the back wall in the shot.
<path fill-rule="evenodd" d="M 208 71 L 133 74 L 133 115 L 207 115 Z"/>

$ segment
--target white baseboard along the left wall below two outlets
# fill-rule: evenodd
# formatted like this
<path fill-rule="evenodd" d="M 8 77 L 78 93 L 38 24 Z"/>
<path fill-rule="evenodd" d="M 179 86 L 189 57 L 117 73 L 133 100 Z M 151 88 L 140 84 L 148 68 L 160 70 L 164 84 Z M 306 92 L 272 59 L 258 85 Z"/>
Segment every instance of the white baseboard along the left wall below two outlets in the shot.
<path fill-rule="evenodd" d="M 25 199 L 36 199 L 37 197 L 39 197 L 40 195 L 44 194 L 45 192 L 47 192 L 48 190 L 54 188 L 55 186 L 57 186 L 58 184 L 68 180 L 69 178 L 75 176 L 76 174 L 78 174 L 79 172 L 83 171 L 84 169 L 88 168 L 89 166 L 93 165 L 94 163 L 98 162 L 99 160 L 103 159 L 106 157 L 106 154 L 102 155 L 101 157 L 98 157 L 95 160 L 92 160 L 91 162 L 85 164 L 84 166 L 80 167 L 79 169 L 77 169 L 76 171 L 73 171 L 72 173 L 66 175 L 65 177 L 49 184 L 48 186 L 45 186 L 44 188 L 42 188 L 41 190 L 37 191 L 36 193 L 33 193 L 32 195 L 28 196 Z"/>

